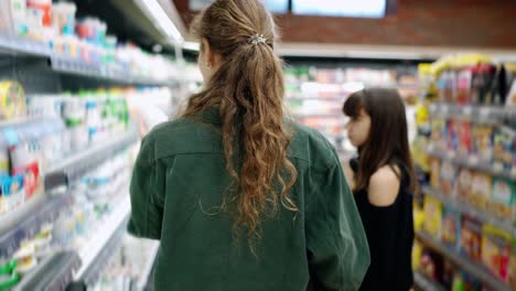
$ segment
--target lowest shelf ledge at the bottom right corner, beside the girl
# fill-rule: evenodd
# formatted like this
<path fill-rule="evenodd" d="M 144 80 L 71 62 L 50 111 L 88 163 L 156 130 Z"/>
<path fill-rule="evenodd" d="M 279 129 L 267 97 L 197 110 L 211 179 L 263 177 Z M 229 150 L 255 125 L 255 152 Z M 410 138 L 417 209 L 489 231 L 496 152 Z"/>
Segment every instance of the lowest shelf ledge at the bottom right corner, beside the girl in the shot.
<path fill-rule="evenodd" d="M 510 291 L 510 287 L 495 278 L 485 267 L 474 262 L 473 260 L 461 256 L 458 251 L 451 249 L 450 247 L 445 246 L 441 241 L 434 239 L 432 236 L 424 231 L 419 231 L 417 234 L 418 239 L 420 239 L 426 246 L 430 247 L 431 249 L 443 254 L 447 258 L 449 258 L 454 265 L 460 267 L 461 269 L 465 270 L 467 273 L 474 276 L 483 283 L 490 285 L 493 290 L 496 291 Z"/>

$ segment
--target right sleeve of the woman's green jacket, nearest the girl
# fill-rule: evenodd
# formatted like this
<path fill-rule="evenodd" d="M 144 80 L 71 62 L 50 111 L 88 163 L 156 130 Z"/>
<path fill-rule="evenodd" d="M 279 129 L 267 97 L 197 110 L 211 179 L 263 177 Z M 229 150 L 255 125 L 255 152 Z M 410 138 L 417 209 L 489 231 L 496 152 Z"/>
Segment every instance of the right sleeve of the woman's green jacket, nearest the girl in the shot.
<path fill-rule="evenodd" d="M 355 201 L 336 152 L 327 169 L 313 169 L 311 200 L 305 206 L 305 235 L 315 290 L 358 290 L 370 261 L 369 247 Z"/>

